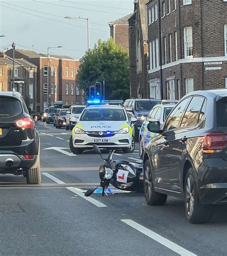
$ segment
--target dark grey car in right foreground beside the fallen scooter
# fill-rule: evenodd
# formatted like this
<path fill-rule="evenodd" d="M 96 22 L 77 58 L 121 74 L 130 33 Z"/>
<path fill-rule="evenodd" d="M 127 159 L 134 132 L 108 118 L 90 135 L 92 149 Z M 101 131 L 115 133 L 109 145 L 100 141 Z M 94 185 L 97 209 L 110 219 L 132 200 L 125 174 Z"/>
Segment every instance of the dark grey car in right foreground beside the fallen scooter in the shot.
<path fill-rule="evenodd" d="M 149 205 L 183 198 L 191 223 L 207 222 L 212 205 L 227 204 L 227 90 L 187 94 L 146 146 L 144 190 Z"/>

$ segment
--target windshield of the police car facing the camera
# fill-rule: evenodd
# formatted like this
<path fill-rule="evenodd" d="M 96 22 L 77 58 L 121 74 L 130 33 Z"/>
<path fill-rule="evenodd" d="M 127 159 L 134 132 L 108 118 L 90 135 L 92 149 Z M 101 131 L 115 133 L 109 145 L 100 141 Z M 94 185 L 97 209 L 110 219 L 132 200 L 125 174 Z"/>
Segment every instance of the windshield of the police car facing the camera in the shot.
<path fill-rule="evenodd" d="M 125 121 L 123 109 L 86 109 L 80 121 Z"/>

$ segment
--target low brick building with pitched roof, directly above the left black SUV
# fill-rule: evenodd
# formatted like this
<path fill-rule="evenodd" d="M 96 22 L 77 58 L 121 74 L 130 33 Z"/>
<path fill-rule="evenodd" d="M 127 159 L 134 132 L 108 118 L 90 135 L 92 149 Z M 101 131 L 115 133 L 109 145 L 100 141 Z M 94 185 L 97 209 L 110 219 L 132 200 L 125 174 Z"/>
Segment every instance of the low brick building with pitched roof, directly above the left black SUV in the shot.
<path fill-rule="evenodd" d="M 12 58 L 5 53 L 0 53 L 0 91 L 11 91 L 12 82 Z M 14 88 L 23 97 L 30 95 L 32 100 L 32 110 L 36 111 L 37 67 L 23 59 L 15 58 L 14 61 Z"/>

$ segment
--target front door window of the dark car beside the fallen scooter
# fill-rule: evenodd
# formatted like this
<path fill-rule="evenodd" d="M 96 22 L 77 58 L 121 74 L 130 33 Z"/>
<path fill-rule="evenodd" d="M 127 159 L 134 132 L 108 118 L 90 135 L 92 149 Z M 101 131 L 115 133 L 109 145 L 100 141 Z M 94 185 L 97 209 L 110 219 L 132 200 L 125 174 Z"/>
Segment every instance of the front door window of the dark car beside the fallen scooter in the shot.
<path fill-rule="evenodd" d="M 173 111 L 171 112 L 170 116 L 168 117 L 165 123 L 164 131 L 178 128 L 179 123 L 181 121 L 182 114 L 184 112 L 185 107 L 188 105 L 189 100 L 191 100 L 191 98 L 184 99 L 180 104 L 178 104 L 173 109 Z"/>

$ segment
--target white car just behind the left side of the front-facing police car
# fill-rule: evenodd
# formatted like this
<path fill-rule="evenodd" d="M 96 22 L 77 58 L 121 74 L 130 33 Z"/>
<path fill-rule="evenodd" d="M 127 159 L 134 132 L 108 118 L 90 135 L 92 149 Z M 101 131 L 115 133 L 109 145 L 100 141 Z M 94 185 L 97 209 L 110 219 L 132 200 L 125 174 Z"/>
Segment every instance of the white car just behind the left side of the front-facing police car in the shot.
<path fill-rule="evenodd" d="M 72 130 L 77 124 L 79 116 L 86 106 L 85 105 L 73 105 L 70 106 L 66 115 L 66 130 Z"/>

